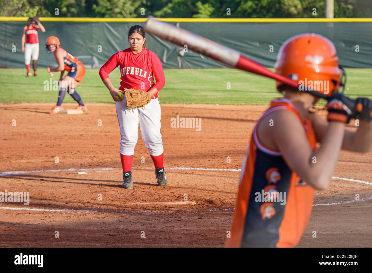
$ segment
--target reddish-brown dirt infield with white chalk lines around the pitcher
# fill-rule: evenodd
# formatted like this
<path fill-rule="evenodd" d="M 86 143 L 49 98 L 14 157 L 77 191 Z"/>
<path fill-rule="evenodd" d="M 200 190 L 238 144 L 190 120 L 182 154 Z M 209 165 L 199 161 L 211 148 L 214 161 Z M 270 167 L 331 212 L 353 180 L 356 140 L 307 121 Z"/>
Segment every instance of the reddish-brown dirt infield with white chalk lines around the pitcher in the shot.
<path fill-rule="evenodd" d="M 267 106 L 162 104 L 168 186 L 157 186 L 139 129 L 133 190 L 121 186 L 115 105 L 87 106 L 49 115 L 52 104 L 0 104 L 0 192 L 29 192 L 29 204 L 0 203 L 1 246 L 223 247 L 244 152 Z M 172 126 L 177 116 L 201 123 Z M 371 167 L 372 153 L 341 152 L 299 247 L 371 246 Z"/>

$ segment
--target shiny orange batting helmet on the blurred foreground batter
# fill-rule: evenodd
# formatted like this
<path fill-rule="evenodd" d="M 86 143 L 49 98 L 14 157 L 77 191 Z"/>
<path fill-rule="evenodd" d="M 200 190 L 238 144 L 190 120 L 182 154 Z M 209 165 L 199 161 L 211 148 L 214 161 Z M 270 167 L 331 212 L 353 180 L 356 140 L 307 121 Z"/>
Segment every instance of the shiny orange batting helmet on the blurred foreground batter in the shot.
<path fill-rule="evenodd" d="M 320 97 L 323 98 L 344 86 L 341 76 L 346 75 L 339 66 L 333 43 L 314 33 L 304 33 L 286 40 L 279 49 L 274 68 L 278 74 L 303 84 L 299 90 L 315 90 L 312 94 L 321 93 Z M 276 87 L 282 92 L 285 85 L 276 81 Z"/>

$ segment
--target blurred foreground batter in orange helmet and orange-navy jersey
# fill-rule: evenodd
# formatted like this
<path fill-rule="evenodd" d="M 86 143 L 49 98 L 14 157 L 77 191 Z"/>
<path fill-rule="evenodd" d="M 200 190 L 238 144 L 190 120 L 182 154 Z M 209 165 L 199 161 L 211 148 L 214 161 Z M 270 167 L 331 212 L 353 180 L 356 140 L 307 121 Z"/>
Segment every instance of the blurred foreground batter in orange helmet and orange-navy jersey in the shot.
<path fill-rule="evenodd" d="M 330 40 L 316 34 L 288 39 L 275 68 L 299 83 L 322 82 L 323 88 L 304 92 L 277 82 L 284 97 L 273 100 L 254 127 L 227 247 L 296 246 L 310 219 L 314 191 L 328 187 L 340 150 L 372 150 L 372 101 L 358 98 L 359 112 L 343 103 L 338 90 L 344 71 Z M 327 120 L 309 111 L 318 92 L 330 97 Z M 351 118 L 360 120 L 356 131 L 344 128 Z"/>

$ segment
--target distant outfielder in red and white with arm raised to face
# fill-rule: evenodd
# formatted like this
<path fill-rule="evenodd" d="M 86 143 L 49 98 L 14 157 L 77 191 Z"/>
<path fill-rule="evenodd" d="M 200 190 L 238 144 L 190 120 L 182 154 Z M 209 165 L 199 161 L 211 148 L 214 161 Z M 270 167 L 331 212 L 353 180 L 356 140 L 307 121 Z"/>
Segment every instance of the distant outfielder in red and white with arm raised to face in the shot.
<path fill-rule="evenodd" d="M 23 28 L 22 52 L 25 52 L 25 65 L 27 69 L 27 77 L 30 77 L 31 58 L 33 65 L 33 75 L 36 76 L 37 62 L 39 58 L 38 31 L 45 32 L 45 28 L 43 25 L 41 25 L 40 21 L 38 20 L 38 17 L 33 18 L 30 17 L 27 23 L 28 25 Z M 37 25 L 35 25 L 35 23 Z"/>

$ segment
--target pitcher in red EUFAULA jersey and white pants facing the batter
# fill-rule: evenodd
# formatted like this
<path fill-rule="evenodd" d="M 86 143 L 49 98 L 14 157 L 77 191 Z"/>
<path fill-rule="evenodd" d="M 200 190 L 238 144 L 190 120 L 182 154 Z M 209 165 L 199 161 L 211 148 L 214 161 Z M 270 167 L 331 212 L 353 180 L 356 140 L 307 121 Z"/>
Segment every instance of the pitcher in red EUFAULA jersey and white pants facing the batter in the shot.
<path fill-rule="evenodd" d="M 114 101 L 121 134 L 120 157 L 123 167 L 123 183 L 125 189 L 133 189 L 132 164 L 134 148 L 138 140 L 138 123 L 141 127 L 142 139 L 150 152 L 155 165 L 155 178 L 159 186 L 166 186 L 167 179 L 163 166 L 163 140 L 160 133 L 160 103 L 158 92 L 164 87 L 163 66 L 158 56 L 144 47 L 145 31 L 142 26 L 135 25 L 129 29 L 129 48 L 119 51 L 101 67 L 99 75 L 106 85 Z M 110 81 L 109 73 L 120 66 L 121 82 L 119 89 Z M 154 84 L 154 77 L 156 83 Z M 134 88 L 148 92 L 150 103 L 143 108 L 128 110 L 126 100 L 118 101 L 116 92 L 124 88 Z"/>

